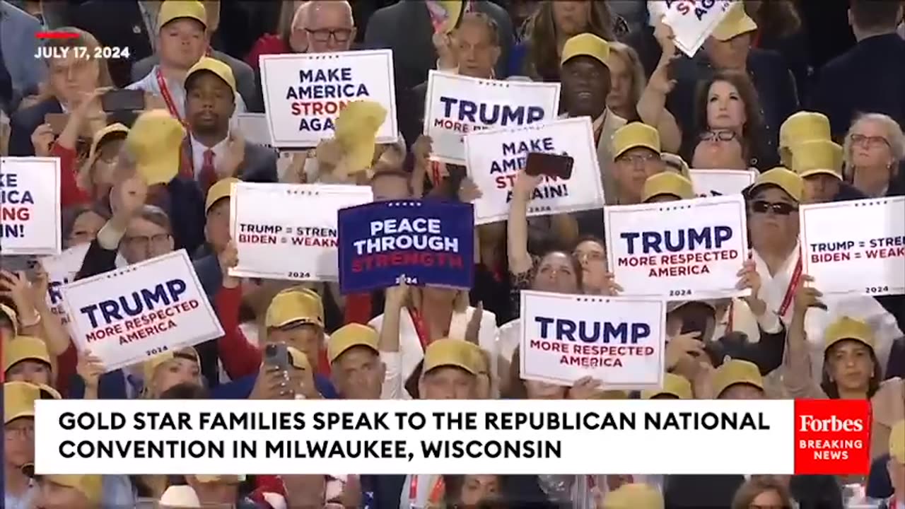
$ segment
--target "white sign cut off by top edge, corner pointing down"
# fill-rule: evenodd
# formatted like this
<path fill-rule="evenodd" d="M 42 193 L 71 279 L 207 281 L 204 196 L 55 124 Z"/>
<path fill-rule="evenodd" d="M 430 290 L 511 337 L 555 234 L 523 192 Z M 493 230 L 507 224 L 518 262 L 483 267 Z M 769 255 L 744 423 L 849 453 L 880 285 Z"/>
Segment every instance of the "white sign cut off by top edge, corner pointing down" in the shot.
<path fill-rule="evenodd" d="M 676 47 L 690 57 L 729 13 L 734 0 L 665 0 L 663 23 L 672 27 Z M 738 8 L 742 8 L 741 5 Z"/>

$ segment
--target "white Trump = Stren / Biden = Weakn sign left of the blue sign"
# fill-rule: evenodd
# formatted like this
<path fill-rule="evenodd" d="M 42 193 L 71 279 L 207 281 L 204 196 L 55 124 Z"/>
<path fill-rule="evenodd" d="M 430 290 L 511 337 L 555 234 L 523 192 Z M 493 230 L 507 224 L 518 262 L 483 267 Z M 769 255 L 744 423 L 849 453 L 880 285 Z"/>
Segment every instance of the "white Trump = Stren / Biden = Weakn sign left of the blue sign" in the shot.
<path fill-rule="evenodd" d="M 239 264 L 230 274 L 338 281 L 337 212 L 373 200 L 369 186 L 235 184 L 230 225 Z"/>

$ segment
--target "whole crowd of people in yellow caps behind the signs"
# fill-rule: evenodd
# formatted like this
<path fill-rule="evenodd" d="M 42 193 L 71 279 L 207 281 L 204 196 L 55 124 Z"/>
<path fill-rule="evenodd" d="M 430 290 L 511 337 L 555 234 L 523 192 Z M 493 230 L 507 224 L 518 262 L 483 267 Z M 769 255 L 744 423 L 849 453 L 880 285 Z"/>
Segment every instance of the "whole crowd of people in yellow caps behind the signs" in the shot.
<path fill-rule="evenodd" d="M 32 274 L 0 271 L 6 509 L 148 501 L 271 509 L 804 509 L 856 499 L 905 507 L 905 296 L 824 297 L 821 282 L 800 274 L 798 217 L 805 204 L 905 195 L 905 3 L 824 1 L 814 15 L 805 0 L 745 0 L 694 57 L 677 51 L 662 23 L 667 2 L 465 0 L 450 34 L 434 33 L 441 3 L 433 0 L 260 2 L 280 11 L 279 25 L 237 36 L 250 41 L 241 50 L 231 42 L 233 26 L 221 23 L 222 9 L 225 20 L 227 9 L 240 8 L 231 3 L 13 4 L 0 0 L 0 154 L 60 159 L 63 248 L 89 245 L 76 278 L 185 249 L 224 336 L 107 371 L 76 348 L 49 308 L 40 266 Z M 842 4 L 850 26 L 839 22 Z M 824 24 L 834 32 L 825 34 Z M 34 37 L 50 29 L 71 37 Z M 820 51 L 835 54 L 808 53 L 820 37 L 834 41 Z M 36 59 L 39 44 L 121 50 L 110 59 L 62 51 Z M 266 113 L 262 55 L 386 48 L 394 55 L 401 133 L 395 144 L 375 146 L 367 171 L 334 171 L 347 154 L 332 140 L 278 153 L 237 127 L 238 113 Z M 593 120 L 607 206 L 693 198 L 689 168 L 756 174 L 744 192 L 752 252 L 738 273 L 738 287 L 751 294 L 669 303 L 662 389 L 608 390 L 594 379 L 561 387 L 520 377 L 521 290 L 622 290 L 606 264 L 603 211 L 529 218 L 541 178 L 524 172 L 508 220 L 475 227 L 470 292 L 401 283 L 342 295 L 335 283 L 230 274 L 238 263 L 230 237 L 236 179 L 369 186 L 375 200 L 480 196 L 462 177 L 467 172 L 430 158 L 432 139 L 422 129 L 432 69 L 560 82 L 561 114 Z M 111 88 L 142 91 L 144 111 L 105 111 L 101 97 Z M 161 165 L 176 165 L 176 177 L 148 186 L 142 168 Z M 262 360 L 270 344 L 291 352 L 288 376 Z M 33 402 L 48 398 L 869 399 L 872 466 L 869 476 L 845 478 L 35 477 Z"/>

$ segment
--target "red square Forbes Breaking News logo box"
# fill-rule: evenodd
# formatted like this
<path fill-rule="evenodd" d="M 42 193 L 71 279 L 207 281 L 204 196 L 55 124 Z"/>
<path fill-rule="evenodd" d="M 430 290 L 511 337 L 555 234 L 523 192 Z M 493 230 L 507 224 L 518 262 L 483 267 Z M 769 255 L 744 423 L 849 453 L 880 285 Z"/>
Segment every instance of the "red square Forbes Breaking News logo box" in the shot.
<path fill-rule="evenodd" d="M 867 475 L 871 401 L 795 400 L 795 475 Z"/>

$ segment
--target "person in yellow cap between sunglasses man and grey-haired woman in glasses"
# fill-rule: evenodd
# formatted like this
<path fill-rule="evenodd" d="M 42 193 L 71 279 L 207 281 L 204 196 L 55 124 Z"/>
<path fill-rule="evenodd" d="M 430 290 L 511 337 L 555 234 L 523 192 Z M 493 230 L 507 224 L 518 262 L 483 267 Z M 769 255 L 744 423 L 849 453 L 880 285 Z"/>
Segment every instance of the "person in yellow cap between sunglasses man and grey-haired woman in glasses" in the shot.
<path fill-rule="evenodd" d="M 827 124 L 827 132 L 829 124 Z M 803 203 L 862 199 L 857 187 L 843 181 L 843 148 L 829 139 L 811 139 L 795 145 L 792 171 L 805 179 Z"/>

